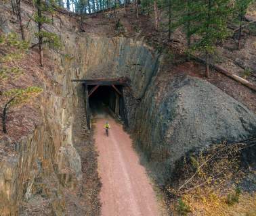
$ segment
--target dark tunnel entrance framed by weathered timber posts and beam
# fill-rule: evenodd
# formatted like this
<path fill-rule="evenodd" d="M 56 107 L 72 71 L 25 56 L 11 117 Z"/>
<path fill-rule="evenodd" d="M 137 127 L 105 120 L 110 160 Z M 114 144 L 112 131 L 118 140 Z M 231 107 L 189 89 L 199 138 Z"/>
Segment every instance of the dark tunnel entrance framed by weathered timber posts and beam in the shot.
<path fill-rule="evenodd" d="M 111 113 L 121 118 L 125 126 L 128 126 L 127 109 L 123 97 L 123 87 L 128 86 L 125 79 L 95 79 L 95 80 L 72 80 L 72 82 L 82 82 L 85 94 L 85 114 L 87 127 L 90 129 L 91 110 L 95 106 L 104 103 Z"/>

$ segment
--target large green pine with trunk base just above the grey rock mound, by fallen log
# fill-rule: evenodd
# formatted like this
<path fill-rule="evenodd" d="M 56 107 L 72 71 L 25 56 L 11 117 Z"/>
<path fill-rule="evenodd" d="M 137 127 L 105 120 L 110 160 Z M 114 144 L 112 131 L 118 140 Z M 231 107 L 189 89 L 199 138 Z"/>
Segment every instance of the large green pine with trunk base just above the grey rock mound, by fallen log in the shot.
<path fill-rule="evenodd" d="M 192 16 L 189 35 L 198 36 L 193 48 L 205 53 L 206 76 L 209 78 L 210 55 L 215 51 L 216 43 L 228 36 L 227 22 L 232 7 L 230 0 L 199 0 L 194 2 L 193 8 L 196 14 Z"/>

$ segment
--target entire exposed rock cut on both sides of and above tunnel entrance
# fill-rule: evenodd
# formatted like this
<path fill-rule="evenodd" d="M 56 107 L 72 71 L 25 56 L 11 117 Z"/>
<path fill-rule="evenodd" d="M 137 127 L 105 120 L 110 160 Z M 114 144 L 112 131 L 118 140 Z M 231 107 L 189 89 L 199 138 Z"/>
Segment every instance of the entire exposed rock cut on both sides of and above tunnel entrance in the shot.
<path fill-rule="evenodd" d="M 56 68 L 43 83 L 43 123 L 16 143 L 14 155 L 0 162 L 0 215 L 18 215 L 21 201 L 37 195 L 51 200 L 52 215 L 64 215 L 62 189 L 76 188 L 82 175 L 77 128 L 86 126 L 83 117 L 74 116 L 83 108 L 83 88 L 72 79 L 131 80 L 131 90 L 125 90 L 129 126 L 160 182 L 192 148 L 255 134 L 255 114 L 208 82 L 163 77 L 168 82 L 159 94 L 162 82 L 156 77 L 164 75 L 158 72 L 158 55 L 142 41 L 78 34 L 58 29 L 58 20 L 54 23 L 47 29 L 61 34 L 66 55 L 47 53 Z M 10 25 L 7 22 L 5 32 L 14 29 Z"/>

